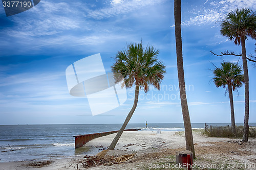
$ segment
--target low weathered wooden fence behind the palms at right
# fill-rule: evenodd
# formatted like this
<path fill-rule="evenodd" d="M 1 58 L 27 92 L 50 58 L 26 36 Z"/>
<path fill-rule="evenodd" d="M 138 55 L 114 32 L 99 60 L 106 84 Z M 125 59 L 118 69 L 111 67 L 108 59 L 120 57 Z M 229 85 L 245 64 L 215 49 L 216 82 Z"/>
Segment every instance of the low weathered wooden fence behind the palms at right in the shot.
<path fill-rule="evenodd" d="M 205 133 L 208 136 L 214 137 L 230 137 L 230 136 L 243 136 L 244 127 L 236 127 L 236 134 L 232 133 L 231 126 L 208 126 L 205 124 Z M 256 128 L 249 127 L 249 137 L 256 137 Z"/>

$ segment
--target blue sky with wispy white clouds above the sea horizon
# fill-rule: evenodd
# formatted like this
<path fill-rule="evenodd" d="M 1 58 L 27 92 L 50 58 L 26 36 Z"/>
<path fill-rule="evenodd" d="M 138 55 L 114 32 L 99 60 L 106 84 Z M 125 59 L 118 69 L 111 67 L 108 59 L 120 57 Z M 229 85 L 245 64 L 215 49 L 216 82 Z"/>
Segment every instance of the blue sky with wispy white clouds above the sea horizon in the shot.
<path fill-rule="evenodd" d="M 2 5 L 2 4 L 1 4 Z M 209 53 L 241 53 L 220 34 L 220 21 L 236 8 L 256 10 L 254 0 L 182 1 L 182 45 L 187 101 L 191 123 L 230 123 L 225 89 L 211 81 L 214 65 L 238 62 Z M 126 44 L 154 45 L 166 65 L 160 91 L 140 91 L 130 123 L 182 123 L 179 100 L 174 1 L 41 0 L 35 7 L 7 17 L 0 7 L 0 124 L 122 124 L 134 102 L 134 88 L 119 107 L 92 115 L 86 97 L 69 93 L 66 69 L 100 53 L 104 69 Z M 255 40 L 246 53 L 255 54 Z M 248 61 L 250 115 L 256 122 L 256 68 Z M 233 92 L 237 123 L 244 122 L 244 86 Z M 100 104 L 99 104 L 100 107 Z"/>

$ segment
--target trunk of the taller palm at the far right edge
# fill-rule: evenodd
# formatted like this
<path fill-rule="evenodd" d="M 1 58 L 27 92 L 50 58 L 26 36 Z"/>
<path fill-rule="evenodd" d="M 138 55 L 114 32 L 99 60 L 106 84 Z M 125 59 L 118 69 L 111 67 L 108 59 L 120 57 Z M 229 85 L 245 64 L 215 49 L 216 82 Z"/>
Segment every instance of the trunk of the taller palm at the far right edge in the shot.
<path fill-rule="evenodd" d="M 246 50 L 245 50 L 245 38 L 241 36 L 241 46 L 242 46 L 242 59 L 243 59 L 243 68 L 244 68 L 244 90 L 245 90 L 245 113 L 244 113 L 244 132 L 243 132 L 243 141 L 248 141 L 249 135 L 249 74 L 248 66 L 246 60 Z"/>

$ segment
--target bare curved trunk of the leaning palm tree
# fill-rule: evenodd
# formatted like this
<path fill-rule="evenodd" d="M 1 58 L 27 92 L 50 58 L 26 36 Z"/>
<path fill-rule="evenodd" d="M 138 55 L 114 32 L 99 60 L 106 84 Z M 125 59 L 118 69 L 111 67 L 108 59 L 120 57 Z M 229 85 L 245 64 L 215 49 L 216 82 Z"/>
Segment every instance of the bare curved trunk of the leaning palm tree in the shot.
<path fill-rule="evenodd" d="M 116 134 L 116 137 L 113 139 L 113 141 L 111 142 L 110 144 L 110 147 L 109 147 L 109 150 L 114 150 L 115 147 L 116 147 L 116 144 L 119 140 L 119 138 L 121 137 L 126 125 L 129 123 L 136 107 L 137 107 L 137 104 L 138 104 L 138 99 L 139 99 L 139 90 L 140 90 L 140 87 L 139 85 L 136 85 L 135 87 L 135 96 L 134 96 L 134 104 L 133 104 L 133 107 L 131 109 L 131 111 L 129 112 L 129 114 L 127 115 L 126 119 L 124 120 L 124 123 L 121 127 L 121 129 L 118 131 L 118 133 Z"/>

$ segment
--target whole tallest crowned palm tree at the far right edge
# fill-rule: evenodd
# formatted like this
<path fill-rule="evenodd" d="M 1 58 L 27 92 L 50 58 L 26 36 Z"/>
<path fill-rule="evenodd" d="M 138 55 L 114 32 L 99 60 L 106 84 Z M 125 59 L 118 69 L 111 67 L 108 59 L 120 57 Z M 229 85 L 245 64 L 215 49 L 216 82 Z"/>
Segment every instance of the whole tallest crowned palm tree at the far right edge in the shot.
<path fill-rule="evenodd" d="M 227 14 L 221 23 L 221 35 L 226 36 L 234 44 L 242 46 L 242 59 L 245 85 L 245 114 L 243 141 L 248 141 L 249 134 L 249 75 L 246 60 L 245 40 L 248 37 L 256 40 L 256 13 L 248 8 L 236 9 Z"/>

